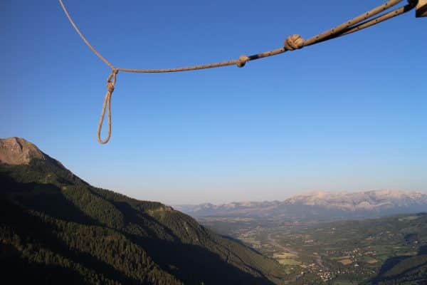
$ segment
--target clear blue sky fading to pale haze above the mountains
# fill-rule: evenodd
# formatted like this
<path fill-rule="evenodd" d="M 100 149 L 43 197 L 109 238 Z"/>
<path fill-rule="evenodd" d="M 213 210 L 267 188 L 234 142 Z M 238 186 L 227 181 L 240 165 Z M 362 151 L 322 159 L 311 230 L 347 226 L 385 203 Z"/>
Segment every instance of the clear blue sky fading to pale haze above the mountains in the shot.
<path fill-rule="evenodd" d="M 382 1 L 71 1 L 116 66 L 168 68 L 279 48 Z M 120 4 L 119 4 L 120 3 Z M 58 1 L 0 4 L 0 138 L 34 142 L 92 185 L 169 204 L 312 190 L 427 190 L 427 19 L 414 12 L 245 68 L 110 73 Z"/>

